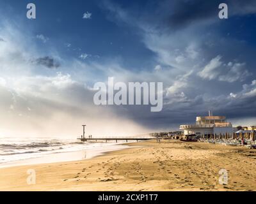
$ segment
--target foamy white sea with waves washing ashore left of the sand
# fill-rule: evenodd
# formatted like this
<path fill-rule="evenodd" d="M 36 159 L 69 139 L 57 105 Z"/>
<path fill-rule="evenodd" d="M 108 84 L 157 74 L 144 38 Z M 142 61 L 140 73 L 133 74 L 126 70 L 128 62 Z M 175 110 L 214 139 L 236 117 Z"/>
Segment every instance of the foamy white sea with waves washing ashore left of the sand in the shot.
<path fill-rule="evenodd" d="M 11 164 L 55 163 L 88 159 L 102 152 L 123 149 L 125 145 L 121 145 L 122 143 L 124 142 L 96 143 L 60 138 L 0 137 L 0 168 L 13 166 Z M 31 162 L 28 163 L 28 161 Z"/>

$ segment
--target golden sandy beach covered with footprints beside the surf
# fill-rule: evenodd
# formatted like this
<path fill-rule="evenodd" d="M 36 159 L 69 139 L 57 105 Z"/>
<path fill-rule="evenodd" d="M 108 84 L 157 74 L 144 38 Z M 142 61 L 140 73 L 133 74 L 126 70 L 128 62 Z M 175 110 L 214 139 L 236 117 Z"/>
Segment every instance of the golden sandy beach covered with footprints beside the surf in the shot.
<path fill-rule="evenodd" d="M 1 191 L 256 191 L 256 150 L 156 140 L 83 161 L 0 169 Z M 28 185 L 27 171 L 36 172 Z M 219 183 L 219 171 L 228 184 Z"/>

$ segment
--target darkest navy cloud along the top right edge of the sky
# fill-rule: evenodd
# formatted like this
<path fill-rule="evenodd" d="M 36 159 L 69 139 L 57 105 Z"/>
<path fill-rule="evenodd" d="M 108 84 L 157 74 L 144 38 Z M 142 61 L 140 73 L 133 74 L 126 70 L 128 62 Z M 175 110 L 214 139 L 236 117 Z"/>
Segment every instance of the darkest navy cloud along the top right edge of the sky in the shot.
<path fill-rule="evenodd" d="M 162 23 L 170 29 L 182 29 L 198 22 L 218 20 L 218 8 L 221 3 L 228 5 L 229 17 L 234 15 L 246 15 L 256 12 L 256 1 L 253 0 L 229 0 L 229 1 L 205 1 L 205 0 L 179 0 L 163 1 L 159 3 L 157 14 L 163 18 Z"/>

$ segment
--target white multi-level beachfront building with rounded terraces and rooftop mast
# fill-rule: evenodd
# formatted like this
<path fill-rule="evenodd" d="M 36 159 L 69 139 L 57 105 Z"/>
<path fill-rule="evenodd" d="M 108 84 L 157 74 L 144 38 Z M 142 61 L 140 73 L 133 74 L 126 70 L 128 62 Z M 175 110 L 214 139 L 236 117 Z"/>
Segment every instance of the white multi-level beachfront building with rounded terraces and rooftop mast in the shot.
<path fill-rule="evenodd" d="M 196 117 L 196 124 L 181 125 L 180 129 L 184 130 L 184 135 L 223 135 L 233 133 L 233 127 L 227 122 L 225 116 L 213 116 L 209 111 L 209 116 Z"/>

